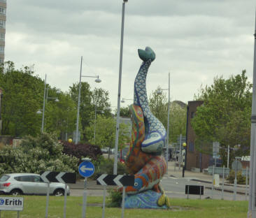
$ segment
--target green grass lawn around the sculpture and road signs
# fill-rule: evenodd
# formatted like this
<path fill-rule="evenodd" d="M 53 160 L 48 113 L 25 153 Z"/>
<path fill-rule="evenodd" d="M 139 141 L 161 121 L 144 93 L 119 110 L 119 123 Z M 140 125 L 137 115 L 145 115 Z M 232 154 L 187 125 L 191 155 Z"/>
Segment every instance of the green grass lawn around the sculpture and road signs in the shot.
<path fill-rule="evenodd" d="M 87 197 L 87 218 L 102 217 L 102 197 Z M 24 196 L 24 210 L 20 218 L 45 217 L 46 196 Z M 192 200 L 171 199 L 173 208 L 170 210 L 142 210 L 127 209 L 125 217 L 147 218 L 244 218 L 247 216 L 248 201 L 221 201 L 221 200 Z M 50 196 L 49 218 L 63 217 L 64 197 Z M 66 204 L 66 217 L 82 217 L 83 197 L 68 196 Z M 106 218 L 121 217 L 121 208 L 106 208 Z M 1 211 L 1 218 L 17 217 L 17 212 Z"/>

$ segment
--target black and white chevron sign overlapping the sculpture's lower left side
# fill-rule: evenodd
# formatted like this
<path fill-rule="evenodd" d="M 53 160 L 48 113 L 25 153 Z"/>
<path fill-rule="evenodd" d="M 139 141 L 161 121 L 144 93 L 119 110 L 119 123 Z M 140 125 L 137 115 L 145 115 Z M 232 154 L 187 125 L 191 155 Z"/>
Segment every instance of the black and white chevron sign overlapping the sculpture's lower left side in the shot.
<path fill-rule="evenodd" d="M 97 178 L 97 184 L 118 185 L 120 187 L 130 186 L 130 185 L 134 186 L 134 175 L 102 174 Z"/>

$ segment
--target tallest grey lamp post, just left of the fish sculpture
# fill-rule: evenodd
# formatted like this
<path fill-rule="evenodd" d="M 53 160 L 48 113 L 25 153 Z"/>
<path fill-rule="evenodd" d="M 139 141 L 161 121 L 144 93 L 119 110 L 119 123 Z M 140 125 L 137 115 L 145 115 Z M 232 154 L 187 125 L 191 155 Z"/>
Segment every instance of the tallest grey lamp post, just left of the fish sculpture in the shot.
<path fill-rule="evenodd" d="M 120 62 L 119 62 L 119 80 L 118 80 L 118 111 L 116 117 L 116 130 L 115 130 L 115 159 L 113 174 L 118 174 L 118 136 L 119 136 L 119 119 L 120 119 L 120 96 L 121 96 L 121 81 L 122 81 L 122 47 L 124 43 L 124 26 L 125 26 L 125 3 L 128 0 L 122 2 L 122 27 L 121 27 L 121 42 L 120 42 Z"/>

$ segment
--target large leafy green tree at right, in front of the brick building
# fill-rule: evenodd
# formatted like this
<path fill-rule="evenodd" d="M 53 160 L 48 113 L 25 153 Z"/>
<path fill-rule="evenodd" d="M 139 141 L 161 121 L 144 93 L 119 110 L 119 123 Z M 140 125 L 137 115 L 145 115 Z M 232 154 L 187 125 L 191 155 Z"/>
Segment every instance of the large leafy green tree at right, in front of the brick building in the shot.
<path fill-rule="evenodd" d="M 202 152 L 211 153 L 212 142 L 218 141 L 224 147 L 241 145 L 241 155 L 249 153 L 252 84 L 247 79 L 242 71 L 227 80 L 215 78 L 213 85 L 201 89 L 197 100 L 204 104 L 197 108 L 192 128 Z"/>

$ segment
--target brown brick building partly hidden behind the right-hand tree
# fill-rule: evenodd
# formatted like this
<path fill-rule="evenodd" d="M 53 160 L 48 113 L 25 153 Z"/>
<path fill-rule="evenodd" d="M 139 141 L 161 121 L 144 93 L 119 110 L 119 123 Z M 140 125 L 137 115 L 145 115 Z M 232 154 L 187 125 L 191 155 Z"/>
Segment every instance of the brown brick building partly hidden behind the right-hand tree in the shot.
<path fill-rule="evenodd" d="M 199 168 L 202 171 L 208 168 L 210 156 L 197 151 L 195 147 L 196 134 L 191 126 L 191 120 L 197 112 L 197 107 L 201 106 L 204 101 L 189 101 L 187 104 L 187 152 L 186 152 L 186 169 Z"/>

